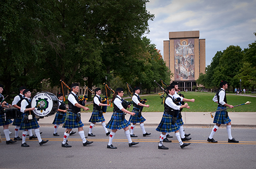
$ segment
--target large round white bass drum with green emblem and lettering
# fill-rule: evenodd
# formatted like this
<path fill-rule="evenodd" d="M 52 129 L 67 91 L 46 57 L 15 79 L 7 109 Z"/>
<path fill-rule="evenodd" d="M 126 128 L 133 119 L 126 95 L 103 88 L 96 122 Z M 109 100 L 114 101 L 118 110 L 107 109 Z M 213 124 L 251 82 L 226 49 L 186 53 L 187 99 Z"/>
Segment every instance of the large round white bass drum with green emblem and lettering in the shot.
<path fill-rule="evenodd" d="M 31 100 L 34 114 L 40 117 L 54 115 L 59 109 L 57 96 L 49 92 L 38 92 Z"/>

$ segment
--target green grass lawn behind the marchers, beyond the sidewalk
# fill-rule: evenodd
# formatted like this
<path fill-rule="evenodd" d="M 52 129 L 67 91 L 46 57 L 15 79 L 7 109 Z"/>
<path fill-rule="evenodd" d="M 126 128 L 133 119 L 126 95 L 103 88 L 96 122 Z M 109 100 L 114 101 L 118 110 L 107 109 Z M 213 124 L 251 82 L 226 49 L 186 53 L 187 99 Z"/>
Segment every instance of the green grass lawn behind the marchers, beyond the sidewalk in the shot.
<path fill-rule="evenodd" d="M 212 98 L 215 93 L 205 93 L 205 92 L 181 92 L 185 95 L 187 99 L 195 99 L 195 102 L 188 102 L 190 109 L 183 109 L 186 112 L 211 112 L 217 109 L 217 103 L 212 101 Z M 161 104 L 162 99 L 158 94 L 151 94 L 147 96 L 141 96 L 141 99 L 147 99 L 147 103 L 149 104 L 149 108 L 144 107 L 142 111 L 148 112 L 163 112 L 164 106 Z M 131 99 L 126 99 L 127 101 L 131 101 Z M 235 107 L 233 109 L 228 109 L 229 112 L 256 112 L 256 107 L 254 103 L 256 103 L 256 98 L 249 96 L 240 96 L 240 95 L 231 95 L 227 94 L 227 101 L 229 104 L 236 106 L 238 104 L 245 103 L 246 101 L 251 101 L 249 105 L 243 105 L 239 107 Z M 93 106 L 89 106 L 90 111 L 92 111 Z M 132 106 L 129 109 L 132 110 Z M 113 107 L 108 107 L 107 112 L 113 112 Z"/>

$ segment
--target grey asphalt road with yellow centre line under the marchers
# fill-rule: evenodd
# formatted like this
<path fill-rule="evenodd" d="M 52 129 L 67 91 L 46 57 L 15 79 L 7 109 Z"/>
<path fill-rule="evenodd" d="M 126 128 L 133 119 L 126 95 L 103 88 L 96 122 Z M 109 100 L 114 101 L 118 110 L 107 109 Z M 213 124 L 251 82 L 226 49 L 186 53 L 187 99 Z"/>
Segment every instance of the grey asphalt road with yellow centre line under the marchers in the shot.
<path fill-rule="evenodd" d="M 11 129 L 12 126 L 10 126 Z M 117 131 L 113 145 L 117 149 L 107 149 L 109 137 L 102 127 L 94 127 L 95 137 L 87 138 L 94 141 L 83 147 L 78 133 L 69 136 L 71 148 L 62 148 L 62 136 L 53 136 L 53 127 L 40 127 L 42 139 L 49 142 L 39 146 L 38 140 L 29 140 L 30 147 L 21 147 L 21 141 L 14 144 L 0 143 L 0 168 L 255 168 L 256 167 L 256 137 L 255 128 L 233 128 L 232 135 L 239 143 L 228 143 L 226 127 L 219 128 L 214 135 L 218 143 L 208 143 L 207 137 L 211 132 L 208 127 L 185 128 L 191 133 L 190 146 L 181 149 L 174 136 L 173 142 L 164 145 L 169 150 L 158 149 L 160 133 L 156 127 L 146 127 L 150 136 L 143 137 L 139 125 L 135 127 L 140 142 L 129 147 L 124 131 Z M 84 127 L 85 134 L 89 131 Z M 13 130 L 12 130 L 13 131 Z M 58 133 L 63 135 L 64 128 L 59 127 Z M 77 131 L 75 129 L 74 131 Z M 34 131 L 33 131 L 34 133 Z M 21 132 L 19 134 L 21 136 Z M 14 133 L 11 135 L 13 139 Z"/>

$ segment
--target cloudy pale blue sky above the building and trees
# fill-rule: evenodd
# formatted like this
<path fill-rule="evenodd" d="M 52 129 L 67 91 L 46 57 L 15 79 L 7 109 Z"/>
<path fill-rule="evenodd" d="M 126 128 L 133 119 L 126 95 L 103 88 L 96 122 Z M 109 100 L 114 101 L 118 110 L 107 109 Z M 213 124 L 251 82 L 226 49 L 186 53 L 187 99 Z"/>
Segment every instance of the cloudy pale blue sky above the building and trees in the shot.
<path fill-rule="evenodd" d="M 205 39 L 206 66 L 217 51 L 230 45 L 241 49 L 256 41 L 256 0 L 149 0 L 147 10 L 155 14 L 149 21 L 151 44 L 163 55 L 163 41 L 170 31 L 199 30 Z M 163 56 L 164 57 L 164 56 Z"/>

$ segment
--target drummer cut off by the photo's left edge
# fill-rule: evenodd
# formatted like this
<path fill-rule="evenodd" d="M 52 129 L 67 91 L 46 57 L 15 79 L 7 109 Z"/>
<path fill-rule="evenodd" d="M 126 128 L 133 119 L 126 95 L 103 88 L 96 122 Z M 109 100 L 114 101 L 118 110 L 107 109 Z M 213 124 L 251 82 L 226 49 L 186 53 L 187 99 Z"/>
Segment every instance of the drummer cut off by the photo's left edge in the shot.
<path fill-rule="evenodd" d="M 5 107 L 7 107 L 7 108 L 11 107 L 11 105 L 8 105 L 6 103 L 6 101 L 3 101 L 4 100 L 4 96 L 2 95 L 2 92 L 4 90 L 3 88 L 4 88 L 4 86 L 2 84 L 0 84 L 0 111 L 2 111 Z M 6 138 L 6 144 L 17 142 L 15 140 L 13 141 L 10 139 L 9 124 L 11 124 L 11 123 L 12 123 L 11 119 L 6 119 L 6 117 L 0 113 L 0 126 L 4 127 L 4 135 Z"/>

